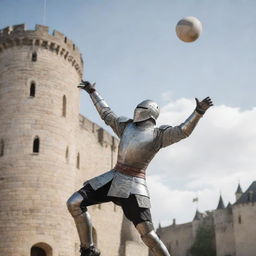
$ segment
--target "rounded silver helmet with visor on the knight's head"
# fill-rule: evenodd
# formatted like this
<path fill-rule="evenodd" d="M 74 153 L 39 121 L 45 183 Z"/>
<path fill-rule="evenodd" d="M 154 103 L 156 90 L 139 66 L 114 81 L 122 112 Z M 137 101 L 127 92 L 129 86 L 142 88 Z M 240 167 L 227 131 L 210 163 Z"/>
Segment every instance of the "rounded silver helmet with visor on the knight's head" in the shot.
<path fill-rule="evenodd" d="M 144 100 L 134 110 L 133 122 L 141 122 L 152 118 L 155 122 L 160 113 L 156 102 L 152 100 Z"/>

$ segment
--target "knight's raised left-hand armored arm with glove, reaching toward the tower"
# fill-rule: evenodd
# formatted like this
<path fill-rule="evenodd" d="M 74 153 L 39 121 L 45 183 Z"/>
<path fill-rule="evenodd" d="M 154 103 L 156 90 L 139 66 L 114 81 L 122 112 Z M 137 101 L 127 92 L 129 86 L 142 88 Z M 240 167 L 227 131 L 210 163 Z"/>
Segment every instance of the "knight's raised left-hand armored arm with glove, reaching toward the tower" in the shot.
<path fill-rule="evenodd" d="M 120 137 L 128 119 L 126 120 L 122 117 L 116 116 L 116 114 L 110 109 L 105 100 L 96 91 L 95 83 L 91 84 L 90 82 L 82 80 L 78 88 L 85 90 L 90 95 L 101 119 L 104 120 L 106 125 L 111 126 L 117 136 Z"/>

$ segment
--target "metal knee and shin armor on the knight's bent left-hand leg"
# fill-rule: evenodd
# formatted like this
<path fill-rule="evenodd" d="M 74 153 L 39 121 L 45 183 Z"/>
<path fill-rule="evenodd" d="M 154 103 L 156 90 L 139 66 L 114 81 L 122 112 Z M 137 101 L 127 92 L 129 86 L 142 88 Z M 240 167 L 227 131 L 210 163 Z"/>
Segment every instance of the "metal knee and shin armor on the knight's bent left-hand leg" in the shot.
<path fill-rule="evenodd" d="M 91 217 L 87 211 L 80 208 L 83 197 L 74 193 L 67 201 L 67 207 L 74 218 L 81 247 L 88 248 L 93 245 Z"/>

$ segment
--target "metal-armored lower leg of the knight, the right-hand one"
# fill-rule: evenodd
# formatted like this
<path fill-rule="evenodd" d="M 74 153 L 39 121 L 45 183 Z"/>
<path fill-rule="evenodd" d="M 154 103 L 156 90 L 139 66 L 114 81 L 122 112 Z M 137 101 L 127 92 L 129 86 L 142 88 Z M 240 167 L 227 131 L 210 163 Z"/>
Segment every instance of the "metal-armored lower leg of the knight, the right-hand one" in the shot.
<path fill-rule="evenodd" d="M 139 231 L 142 241 L 149 247 L 154 256 L 170 256 L 164 243 L 154 231 L 151 222 L 141 222 L 137 224 L 136 229 Z"/>

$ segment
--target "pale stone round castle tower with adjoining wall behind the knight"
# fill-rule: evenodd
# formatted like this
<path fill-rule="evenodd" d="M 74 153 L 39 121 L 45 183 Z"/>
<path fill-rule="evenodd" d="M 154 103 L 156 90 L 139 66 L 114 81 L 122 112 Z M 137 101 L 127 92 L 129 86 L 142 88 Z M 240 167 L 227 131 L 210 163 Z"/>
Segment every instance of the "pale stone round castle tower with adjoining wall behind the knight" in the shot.
<path fill-rule="evenodd" d="M 118 144 L 79 114 L 82 70 L 78 48 L 58 31 L 0 30 L 0 255 L 78 255 L 66 200 L 113 167 Z M 89 211 L 102 254 L 117 256 L 121 209 Z"/>

